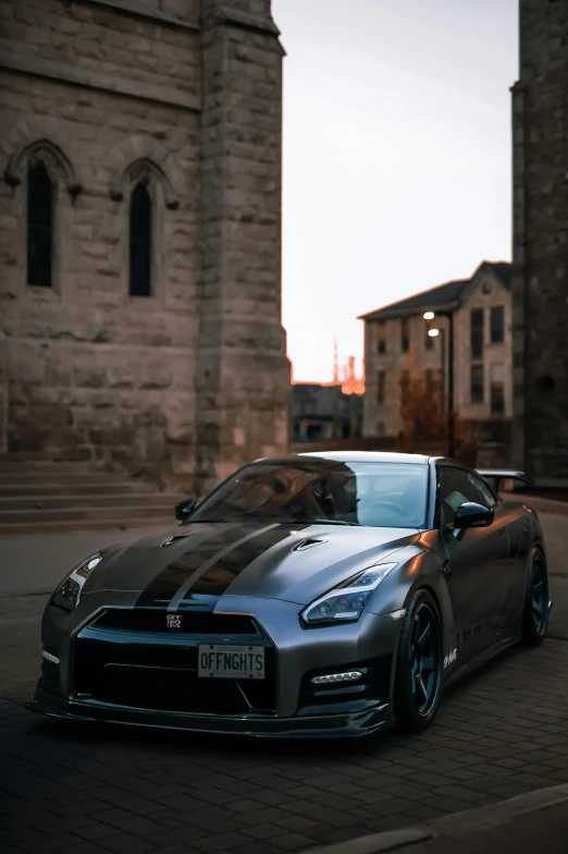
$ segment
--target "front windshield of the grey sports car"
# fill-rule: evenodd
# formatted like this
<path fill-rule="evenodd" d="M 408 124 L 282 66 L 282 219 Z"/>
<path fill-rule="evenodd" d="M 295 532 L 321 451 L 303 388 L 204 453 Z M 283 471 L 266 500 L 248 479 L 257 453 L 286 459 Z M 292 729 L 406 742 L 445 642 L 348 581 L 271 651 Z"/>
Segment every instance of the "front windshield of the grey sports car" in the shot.
<path fill-rule="evenodd" d="M 230 477 L 188 522 L 325 523 L 423 527 L 428 466 L 263 460 Z"/>

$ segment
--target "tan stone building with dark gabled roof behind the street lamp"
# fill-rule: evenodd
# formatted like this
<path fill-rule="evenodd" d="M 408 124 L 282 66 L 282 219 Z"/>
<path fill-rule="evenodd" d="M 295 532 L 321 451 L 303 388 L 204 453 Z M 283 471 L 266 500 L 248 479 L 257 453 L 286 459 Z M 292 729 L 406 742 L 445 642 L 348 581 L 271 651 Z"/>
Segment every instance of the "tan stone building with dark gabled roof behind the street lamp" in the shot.
<path fill-rule="evenodd" d="M 433 312 L 427 321 L 424 313 Z M 439 316 L 436 317 L 436 313 Z M 363 436 L 394 437 L 403 427 L 400 380 L 420 371 L 424 381 L 449 377 L 448 315 L 454 322 L 454 407 L 467 422 L 499 439 L 510 423 L 510 265 L 483 261 L 470 279 L 446 282 L 370 312 L 365 321 Z M 429 330 L 440 330 L 437 338 Z"/>

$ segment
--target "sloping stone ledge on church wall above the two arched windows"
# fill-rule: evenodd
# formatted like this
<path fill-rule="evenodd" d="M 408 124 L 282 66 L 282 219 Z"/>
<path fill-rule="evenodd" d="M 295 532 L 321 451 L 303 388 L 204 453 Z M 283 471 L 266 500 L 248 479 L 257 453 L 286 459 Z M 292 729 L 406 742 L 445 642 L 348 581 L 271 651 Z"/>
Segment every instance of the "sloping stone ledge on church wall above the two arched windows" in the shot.
<path fill-rule="evenodd" d="M 66 62 L 52 62 L 39 57 L 13 53 L 4 50 L 0 54 L 0 69 L 17 74 L 29 74 L 34 77 L 45 77 L 57 83 L 69 83 L 72 86 L 84 86 L 87 89 L 111 91 L 114 95 L 126 95 L 138 100 L 155 101 L 168 107 L 177 107 L 185 110 L 199 112 L 201 103 L 194 95 L 157 86 L 145 81 L 127 80 L 114 74 L 104 74 L 100 71 L 90 71 Z"/>

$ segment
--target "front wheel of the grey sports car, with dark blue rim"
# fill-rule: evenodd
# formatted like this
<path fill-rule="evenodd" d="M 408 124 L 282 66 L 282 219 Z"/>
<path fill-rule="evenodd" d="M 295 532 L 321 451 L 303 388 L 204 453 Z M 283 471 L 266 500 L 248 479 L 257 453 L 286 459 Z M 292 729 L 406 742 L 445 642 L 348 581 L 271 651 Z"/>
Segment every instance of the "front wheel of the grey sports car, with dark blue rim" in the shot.
<path fill-rule="evenodd" d="M 406 606 L 398 643 L 394 688 L 398 729 L 420 732 L 430 727 L 440 706 L 442 682 L 442 620 L 433 597 L 419 589 Z"/>

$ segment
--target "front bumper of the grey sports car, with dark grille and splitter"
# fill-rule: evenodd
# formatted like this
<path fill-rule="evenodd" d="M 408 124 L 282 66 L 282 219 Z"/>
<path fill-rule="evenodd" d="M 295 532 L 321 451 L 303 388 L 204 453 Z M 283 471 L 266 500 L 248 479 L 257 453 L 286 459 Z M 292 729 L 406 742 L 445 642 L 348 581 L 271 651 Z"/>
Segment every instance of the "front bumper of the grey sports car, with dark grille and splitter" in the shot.
<path fill-rule="evenodd" d="M 126 606 L 124 612 L 132 614 L 132 606 L 128 610 L 120 598 L 113 597 L 113 609 Z M 210 685 L 196 680 L 192 664 L 203 637 L 101 631 L 94 620 L 108 612 L 108 595 L 102 598 L 98 594 L 82 598 L 81 614 L 48 607 L 44 648 L 60 663 L 44 663 L 30 708 L 66 719 L 263 737 L 355 736 L 393 725 L 398 620 L 368 613 L 357 623 L 306 630 L 294 603 L 238 597 L 229 602 L 227 598 L 222 602 L 224 613 L 230 606 L 231 614 L 254 615 L 260 636 L 255 642 L 244 635 L 208 637 L 207 643 L 261 643 L 269 647 L 272 686 L 266 685 L 250 711 L 248 706 L 240 709 L 227 704 L 225 708 L 224 701 L 221 711 L 210 709 L 207 703 L 194 707 L 193 698 L 207 694 Z M 366 672 L 360 686 L 330 691 L 311 685 L 313 675 L 359 667 Z M 139 671 L 140 676 L 152 685 L 147 696 L 136 686 L 131 693 L 123 684 L 122 673 L 128 676 L 139 668 L 146 668 Z M 96 674 L 96 690 L 89 685 L 91 673 Z M 120 683 L 116 688 L 113 673 L 120 673 L 119 679 L 114 675 Z M 192 699 L 187 706 L 186 697 Z"/>

